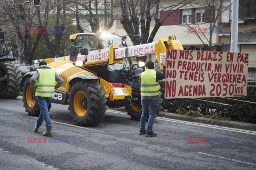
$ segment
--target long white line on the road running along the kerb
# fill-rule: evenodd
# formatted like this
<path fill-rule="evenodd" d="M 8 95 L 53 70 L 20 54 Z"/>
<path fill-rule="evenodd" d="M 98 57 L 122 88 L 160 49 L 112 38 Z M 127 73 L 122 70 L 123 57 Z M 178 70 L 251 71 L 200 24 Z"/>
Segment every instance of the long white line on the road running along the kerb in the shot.
<path fill-rule="evenodd" d="M 113 113 L 127 115 L 126 113 L 114 111 L 112 109 L 108 109 L 107 111 L 113 112 Z M 187 121 L 181 121 L 181 120 L 174 120 L 174 119 L 166 118 L 166 117 L 164 117 L 164 118 L 156 118 L 156 120 L 162 120 L 162 121 L 167 121 L 167 122 L 175 122 L 175 123 L 183 123 L 183 124 L 202 126 L 202 127 L 206 127 L 206 128 L 212 128 L 212 129 L 220 129 L 220 130 L 226 130 L 226 131 L 232 131 L 232 132 L 239 132 L 239 133 L 246 133 L 246 134 L 256 135 L 255 131 L 249 131 L 249 130 L 243 130 L 243 129 L 235 129 L 235 128 L 228 128 L 228 127 L 225 127 L 225 126 L 218 126 L 218 125 L 212 125 L 212 124 L 203 124 L 203 123 L 197 123 L 197 122 L 187 122 Z"/>

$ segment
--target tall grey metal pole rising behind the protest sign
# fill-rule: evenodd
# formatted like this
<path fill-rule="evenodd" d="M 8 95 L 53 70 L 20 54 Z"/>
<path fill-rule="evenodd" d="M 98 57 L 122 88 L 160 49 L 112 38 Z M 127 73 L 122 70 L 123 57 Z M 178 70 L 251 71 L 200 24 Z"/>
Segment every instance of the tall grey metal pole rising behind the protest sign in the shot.
<path fill-rule="evenodd" d="M 233 0 L 230 52 L 237 53 L 239 0 Z"/>

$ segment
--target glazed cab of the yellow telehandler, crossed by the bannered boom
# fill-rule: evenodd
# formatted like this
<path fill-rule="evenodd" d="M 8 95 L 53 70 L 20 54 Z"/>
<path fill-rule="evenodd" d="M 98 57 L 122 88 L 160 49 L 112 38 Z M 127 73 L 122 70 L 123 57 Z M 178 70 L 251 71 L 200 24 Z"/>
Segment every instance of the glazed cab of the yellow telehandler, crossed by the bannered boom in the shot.
<path fill-rule="evenodd" d="M 71 35 L 70 40 L 75 46 L 87 48 L 89 52 L 109 46 L 114 46 L 114 48 L 127 46 L 121 36 L 106 32 L 102 32 L 100 35 L 96 33 L 77 33 Z M 135 65 L 137 64 L 132 63 L 132 58 L 125 58 L 114 61 L 111 64 L 109 62 L 86 63 L 84 67 L 97 73 L 100 78 L 108 82 L 126 84 L 126 79 L 143 71 L 141 68 L 135 67 Z"/>

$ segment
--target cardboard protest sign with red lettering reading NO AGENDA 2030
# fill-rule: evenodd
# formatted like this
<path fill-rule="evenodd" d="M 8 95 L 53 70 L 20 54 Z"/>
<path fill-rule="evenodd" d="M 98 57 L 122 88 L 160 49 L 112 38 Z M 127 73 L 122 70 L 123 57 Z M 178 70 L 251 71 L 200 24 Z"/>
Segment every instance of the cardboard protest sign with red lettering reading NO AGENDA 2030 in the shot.
<path fill-rule="evenodd" d="M 165 98 L 246 96 L 249 54 L 166 51 Z"/>

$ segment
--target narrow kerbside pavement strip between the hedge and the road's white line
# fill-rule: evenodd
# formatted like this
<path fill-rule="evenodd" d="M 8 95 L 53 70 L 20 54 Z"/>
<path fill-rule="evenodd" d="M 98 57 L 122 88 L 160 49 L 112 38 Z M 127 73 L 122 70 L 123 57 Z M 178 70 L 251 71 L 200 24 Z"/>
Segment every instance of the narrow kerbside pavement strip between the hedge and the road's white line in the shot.
<path fill-rule="evenodd" d="M 124 109 L 124 107 L 110 108 L 110 109 L 113 109 L 115 111 L 120 111 L 123 113 L 127 113 L 127 111 Z M 205 117 L 193 117 L 193 116 L 179 115 L 179 114 L 168 113 L 168 112 L 159 112 L 159 115 L 157 117 L 165 117 L 165 118 L 172 118 L 172 119 L 181 120 L 181 121 L 197 122 L 197 123 L 212 124 L 212 125 L 217 125 L 217 126 L 225 126 L 225 127 L 229 127 L 229 128 L 256 131 L 256 124 L 252 124 L 252 123 L 214 120 L 214 119 L 205 118 Z"/>

